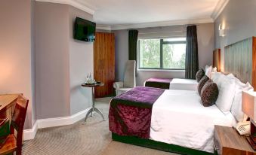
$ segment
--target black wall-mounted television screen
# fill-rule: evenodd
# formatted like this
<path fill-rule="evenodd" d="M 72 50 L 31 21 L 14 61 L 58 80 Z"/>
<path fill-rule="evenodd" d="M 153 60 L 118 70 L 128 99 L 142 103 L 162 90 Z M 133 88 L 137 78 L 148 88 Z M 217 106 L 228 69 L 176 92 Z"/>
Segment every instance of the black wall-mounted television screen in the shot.
<path fill-rule="evenodd" d="M 76 17 L 74 38 L 80 41 L 95 41 L 96 23 Z"/>

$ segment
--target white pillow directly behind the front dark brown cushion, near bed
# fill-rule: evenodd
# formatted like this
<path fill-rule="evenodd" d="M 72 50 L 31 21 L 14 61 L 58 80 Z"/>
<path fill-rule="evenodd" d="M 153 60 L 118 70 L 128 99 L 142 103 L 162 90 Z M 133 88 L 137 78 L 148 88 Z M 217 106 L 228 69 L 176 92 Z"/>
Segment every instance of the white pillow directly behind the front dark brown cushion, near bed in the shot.
<path fill-rule="evenodd" d="M 224 114 L 229 114 L 235 96 L 235 81 L 227 78 L 224 74 L 219 76 L 217 82 L 215 82 L 219 89 L 219 95 L 215 104 Z"/>

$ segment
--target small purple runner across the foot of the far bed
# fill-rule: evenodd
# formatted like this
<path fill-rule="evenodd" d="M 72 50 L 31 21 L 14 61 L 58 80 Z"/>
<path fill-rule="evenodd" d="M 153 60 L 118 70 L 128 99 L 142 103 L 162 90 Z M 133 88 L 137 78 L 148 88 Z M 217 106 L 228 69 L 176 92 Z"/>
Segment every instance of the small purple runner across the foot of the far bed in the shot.
<path fill-rule="evenodd" d="M 145 81 L 145 87 L 155 87 L 168 90 L 172 79 L 166 78 L 150 78 Z"/>

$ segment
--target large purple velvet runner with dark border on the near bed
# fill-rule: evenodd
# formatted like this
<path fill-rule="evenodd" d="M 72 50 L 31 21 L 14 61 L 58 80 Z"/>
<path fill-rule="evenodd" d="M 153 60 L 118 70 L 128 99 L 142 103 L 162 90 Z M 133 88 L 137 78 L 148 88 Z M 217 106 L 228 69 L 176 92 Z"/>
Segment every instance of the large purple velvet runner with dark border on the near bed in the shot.
<path fill-rule="evenodd" d="M 109 105 L 109 130 L 118 135 L 150 138 L 152 107 L 164 91 L 135 87 L 113 98 Z"/>

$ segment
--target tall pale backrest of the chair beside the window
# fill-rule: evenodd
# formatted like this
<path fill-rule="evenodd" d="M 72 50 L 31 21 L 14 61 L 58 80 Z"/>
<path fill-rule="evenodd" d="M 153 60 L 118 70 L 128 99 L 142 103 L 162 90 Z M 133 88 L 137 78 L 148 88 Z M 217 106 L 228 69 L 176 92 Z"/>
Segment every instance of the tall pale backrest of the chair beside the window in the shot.
<path fill-rule="evenodd" d="M 135 79 L 136 61 L 128 60 L 125 66 L 124 87 L 133 88 L 136 86 Z"/>

